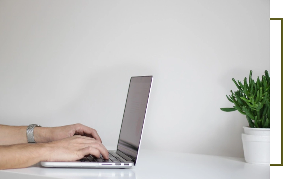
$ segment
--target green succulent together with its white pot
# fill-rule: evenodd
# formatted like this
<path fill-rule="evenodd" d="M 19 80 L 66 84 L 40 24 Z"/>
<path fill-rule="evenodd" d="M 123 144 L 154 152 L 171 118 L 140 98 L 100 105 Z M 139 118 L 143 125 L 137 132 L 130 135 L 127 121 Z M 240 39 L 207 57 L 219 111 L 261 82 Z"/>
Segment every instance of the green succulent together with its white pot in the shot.
<path fill-rule="evenodd" d="M 239 111 L 246 116 L 249 126 L 244 126 L 242 134 L 244 156 L 247 163 L 270 164 L 270 77 L 268 71 L 262 79 L 252 79 L 250 71 L 243 83 L 233 78 L 237 91 L 231 90 L 227 99 L 234 103 L 232 108 L 220 108 L 222 111 Z"/>

